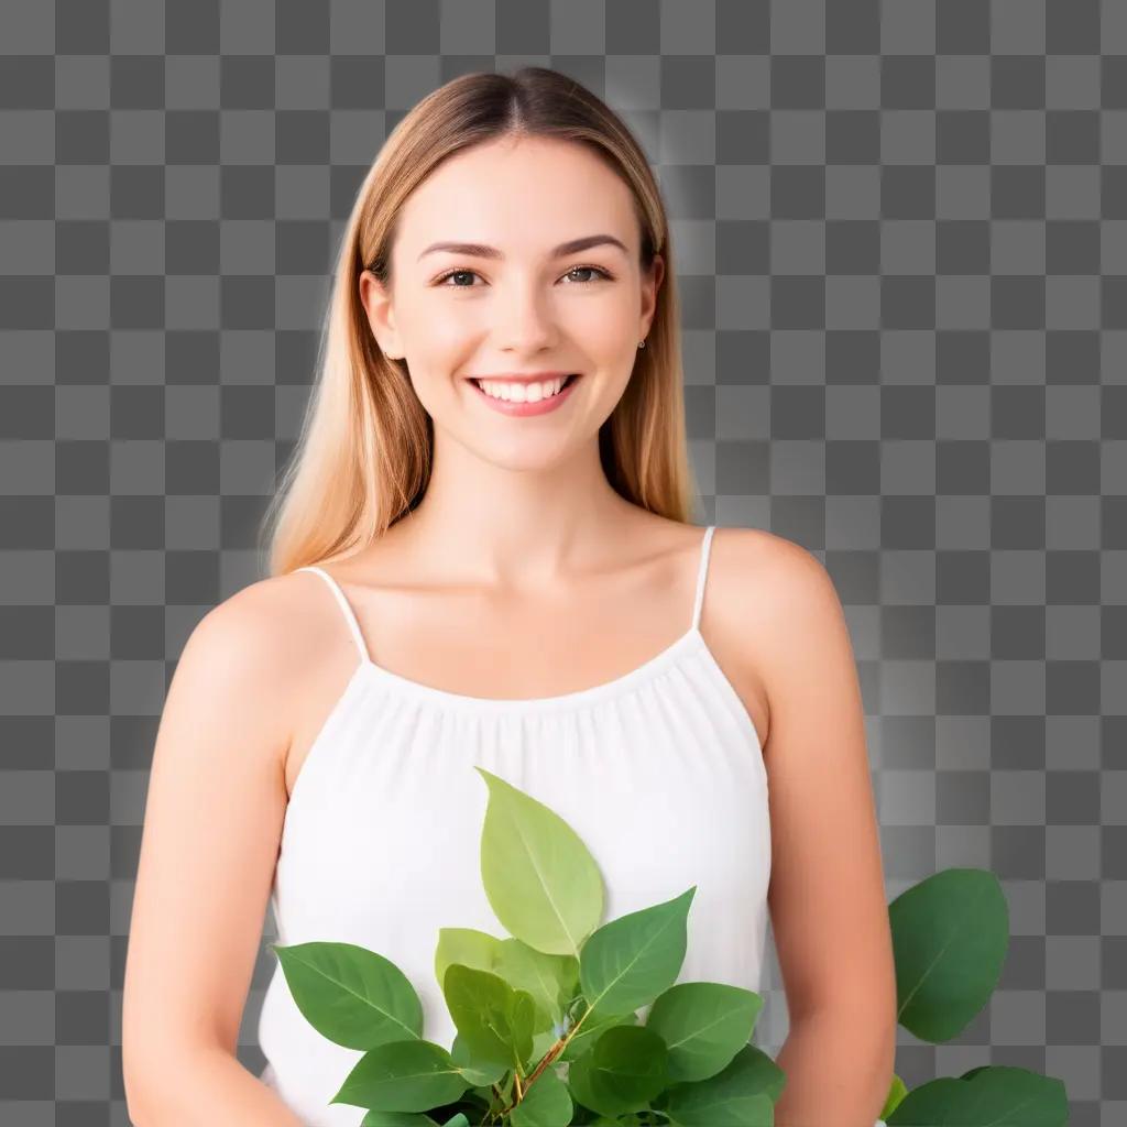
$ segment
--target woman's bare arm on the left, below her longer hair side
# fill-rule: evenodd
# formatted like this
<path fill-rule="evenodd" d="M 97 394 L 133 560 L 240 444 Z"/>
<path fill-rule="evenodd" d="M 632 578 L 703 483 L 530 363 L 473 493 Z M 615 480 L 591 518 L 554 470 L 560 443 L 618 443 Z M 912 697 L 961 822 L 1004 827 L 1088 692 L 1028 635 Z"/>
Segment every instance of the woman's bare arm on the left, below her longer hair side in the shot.
<path fill-rule="evenodd" d="M 207 613 L 165 701 L 123 996 L 136 1127 L 302 1127 L 236 1057 L 286 808 L 284 582 Z"/>

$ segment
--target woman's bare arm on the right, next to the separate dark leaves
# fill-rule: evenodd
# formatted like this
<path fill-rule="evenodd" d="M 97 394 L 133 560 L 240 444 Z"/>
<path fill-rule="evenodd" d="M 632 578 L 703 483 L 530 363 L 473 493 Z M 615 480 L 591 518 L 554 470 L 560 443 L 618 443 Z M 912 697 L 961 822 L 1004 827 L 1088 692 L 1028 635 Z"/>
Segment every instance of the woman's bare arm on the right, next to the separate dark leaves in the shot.
<path fill-rule="evenodd" d="M 896 967 L 864 708 L 836 589 L 781 541 L 772 625 L 767 899 L 791 1031 L 779 1127 L 876 1122 L 896 1055 Z"/>

